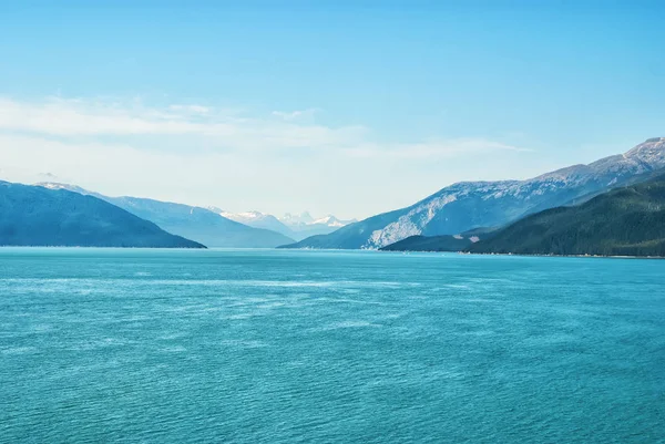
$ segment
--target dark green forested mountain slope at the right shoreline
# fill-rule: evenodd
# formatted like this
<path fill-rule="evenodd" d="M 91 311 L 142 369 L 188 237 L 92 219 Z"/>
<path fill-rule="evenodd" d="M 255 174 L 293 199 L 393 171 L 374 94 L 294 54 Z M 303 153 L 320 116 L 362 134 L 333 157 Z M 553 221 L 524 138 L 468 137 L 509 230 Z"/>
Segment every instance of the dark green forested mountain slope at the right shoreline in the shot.
<path fill-rule="evenodd" d="M 573 207 L 548 209 L 470 246 L 471 252 L 665 256 L 665 175 Z"/>

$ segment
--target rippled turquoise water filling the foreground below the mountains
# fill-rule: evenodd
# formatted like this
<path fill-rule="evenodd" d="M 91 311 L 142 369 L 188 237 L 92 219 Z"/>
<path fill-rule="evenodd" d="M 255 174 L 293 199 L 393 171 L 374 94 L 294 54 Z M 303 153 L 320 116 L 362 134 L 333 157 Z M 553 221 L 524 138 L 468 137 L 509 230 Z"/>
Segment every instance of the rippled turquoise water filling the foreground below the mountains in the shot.
<path fill-rule="evenodd" d="M 0 249 L 0 442 L 665 442 L 665 261 Z"/>

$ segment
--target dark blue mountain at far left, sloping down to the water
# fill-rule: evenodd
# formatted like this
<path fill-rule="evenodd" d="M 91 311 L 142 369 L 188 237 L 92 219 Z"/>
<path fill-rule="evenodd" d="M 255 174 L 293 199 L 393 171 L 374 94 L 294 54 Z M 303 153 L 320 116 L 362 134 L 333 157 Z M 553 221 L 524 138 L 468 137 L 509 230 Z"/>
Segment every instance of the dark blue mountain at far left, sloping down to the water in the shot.
<path fill-rule="evenodd" d="M 0 245 L 205 248 L 93 196 L 0 182 Z"/>

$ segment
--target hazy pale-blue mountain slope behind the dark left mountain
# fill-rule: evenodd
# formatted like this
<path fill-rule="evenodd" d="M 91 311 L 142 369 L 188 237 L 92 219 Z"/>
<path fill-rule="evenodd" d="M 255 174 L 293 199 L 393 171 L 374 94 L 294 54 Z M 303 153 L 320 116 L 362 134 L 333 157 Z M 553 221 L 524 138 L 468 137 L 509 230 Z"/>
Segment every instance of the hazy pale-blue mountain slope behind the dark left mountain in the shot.
<path fill-rule="evenodd" d="M 267 229 L 229 220 L 208 209 L 140 197 L 109 197 L 83 188 L 55 183 L 39 184 L 50 189 L 70 189 L 92 195 L 123 208 L 165 230 L 196 240 L 207 247 L 273 248 L 293 239 Z"/>

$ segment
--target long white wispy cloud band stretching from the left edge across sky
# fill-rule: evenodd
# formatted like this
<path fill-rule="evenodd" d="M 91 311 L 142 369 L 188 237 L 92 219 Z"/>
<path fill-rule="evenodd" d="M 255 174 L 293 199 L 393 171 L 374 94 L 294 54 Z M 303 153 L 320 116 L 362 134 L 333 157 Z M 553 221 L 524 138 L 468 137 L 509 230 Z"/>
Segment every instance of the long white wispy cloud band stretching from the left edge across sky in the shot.
<path fill-rule="evenodd" d="M 241 116 L 198 104 L 146 106 L 140 101 L 49 97 L 39 102 L 0 99 L 0 131 L 58 137 L 185 136 L 207 147 L 275 151 L 337 149 L 350 157 L 427 158 L 492 151 L 524 151 L 485 138 L 379 143 L 361 125 L 331 127 L 299 122 L 317 109 L 277 112 L 280 117 Z"/>

